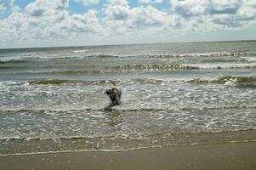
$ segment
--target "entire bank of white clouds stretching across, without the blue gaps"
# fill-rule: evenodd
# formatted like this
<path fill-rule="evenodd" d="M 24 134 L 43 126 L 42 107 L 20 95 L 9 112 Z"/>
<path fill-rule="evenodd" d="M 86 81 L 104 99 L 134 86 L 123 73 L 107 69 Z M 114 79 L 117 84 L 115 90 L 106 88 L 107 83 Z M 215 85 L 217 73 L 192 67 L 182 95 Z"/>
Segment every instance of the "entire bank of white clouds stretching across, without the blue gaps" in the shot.
<path fill-rule="evenodd" d="M 154 7 L 162 0 L 108 0 L 102 8 L 84 14 L 69 13 L 69 5 L 100 3 L 100 0 L 35 0 L 18 8 L 14 0 L 0 0 L 0 12 L 12 11 L 0 20 L 0 42 L 59 40 L 121 35 L 162 35 L 207 32 L 256 26 L 256 1 L 247 0 L 168 0 L 169 10 Z M 89 7 L 86 7 L 89 8 Z M 130 36 L 131 37 L 131 36 Z"/>

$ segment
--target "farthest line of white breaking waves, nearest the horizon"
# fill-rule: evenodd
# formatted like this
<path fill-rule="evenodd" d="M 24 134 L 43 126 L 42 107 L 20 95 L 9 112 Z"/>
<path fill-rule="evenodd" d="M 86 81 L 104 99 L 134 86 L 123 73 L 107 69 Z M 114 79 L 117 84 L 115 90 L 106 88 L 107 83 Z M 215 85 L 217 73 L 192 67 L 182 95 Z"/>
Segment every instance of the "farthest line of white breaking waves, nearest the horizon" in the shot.
<path fill-rule="evenodd" d="M 85 59 L 88 57 L 99 58 L 121 58 L 121 57 L 149 57 L 149 58 L 180 58 L 180 57 L 219 57 L 215 62 L 219 61 L 248 61 L 252 62 L 253 59 L 245 59 L 246 56 L 254 56 L 256 53 L 245 52 L 216 52 L 216 53 L 203 53 L 203 54 L 99 54 L 99 53 L 85 53 L 87 50 L 74 50 L 74 54 L 26 54 L 24 56 L 0 57 L 0 63 L 15 63 L 15 62 L 28 62 L 35 59 L 48 59 L 48 60 L 61 60 L 61 59 Z M 78 55 L 79 54 L 79 55 Z M 226 58 L 228 57 L 228 58 Z"/>

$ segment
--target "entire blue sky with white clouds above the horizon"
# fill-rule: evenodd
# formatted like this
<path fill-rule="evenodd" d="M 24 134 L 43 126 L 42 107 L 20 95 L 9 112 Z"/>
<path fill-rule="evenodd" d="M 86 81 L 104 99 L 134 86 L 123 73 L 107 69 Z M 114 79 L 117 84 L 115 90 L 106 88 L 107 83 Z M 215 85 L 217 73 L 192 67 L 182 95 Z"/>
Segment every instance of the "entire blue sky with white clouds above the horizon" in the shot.
<path fill-rule="evenodd" d="M 0 48 L 256 39 L 256 0 L 0 0 Z"/>

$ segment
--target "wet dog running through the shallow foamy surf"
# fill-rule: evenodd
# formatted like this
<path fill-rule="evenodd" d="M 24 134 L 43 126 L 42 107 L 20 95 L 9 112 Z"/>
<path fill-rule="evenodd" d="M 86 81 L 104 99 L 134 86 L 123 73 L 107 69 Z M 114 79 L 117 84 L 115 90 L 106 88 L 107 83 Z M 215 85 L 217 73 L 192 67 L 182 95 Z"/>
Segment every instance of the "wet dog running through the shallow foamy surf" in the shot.
<path fill-rule="evenodd" d="M 121 104 L 122 89 L 119 88 L 115 82 L 111 81 L 111 83 L 114 86 L 110 89 L 105 90 L 105 94 L 107 94 L 111 99 L 111 104 L 105 107 L 105 110 L 110 110 L 113 106 Z"/>

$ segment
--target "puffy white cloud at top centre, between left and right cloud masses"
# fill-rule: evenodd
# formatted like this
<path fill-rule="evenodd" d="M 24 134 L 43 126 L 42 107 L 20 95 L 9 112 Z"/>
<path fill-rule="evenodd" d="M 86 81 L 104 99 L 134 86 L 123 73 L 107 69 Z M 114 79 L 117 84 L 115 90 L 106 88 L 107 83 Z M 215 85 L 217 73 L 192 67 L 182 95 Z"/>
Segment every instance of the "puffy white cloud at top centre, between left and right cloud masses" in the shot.
<path fill-rule="evenodd" d="M 105 26 L 112 32 L 131 32 L 140 30 L 164 30 L 168 26 L 178 26 L 174 23 L 176 15 L 169 15 L 157 8 L 147 5 L 130 8 L 125 0 L 110 0 L 105 8 Z"/>

